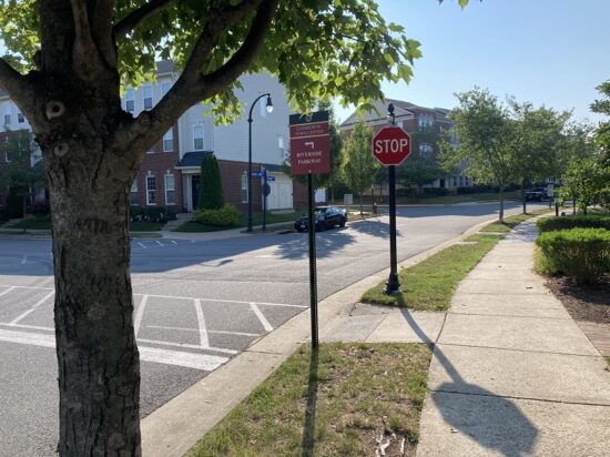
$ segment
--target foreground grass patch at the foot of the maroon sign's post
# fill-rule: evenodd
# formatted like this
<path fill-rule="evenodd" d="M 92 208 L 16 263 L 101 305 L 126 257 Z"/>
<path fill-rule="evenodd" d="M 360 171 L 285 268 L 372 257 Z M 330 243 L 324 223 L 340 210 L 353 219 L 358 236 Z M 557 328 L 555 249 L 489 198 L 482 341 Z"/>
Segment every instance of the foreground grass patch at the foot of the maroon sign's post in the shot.
<path fill-rule="evenodd" d="M 308 346 L 205 435 L 186 456 L 365 456 L 395 433 L 415 455 L 430 349 L 421 344 Z"/>

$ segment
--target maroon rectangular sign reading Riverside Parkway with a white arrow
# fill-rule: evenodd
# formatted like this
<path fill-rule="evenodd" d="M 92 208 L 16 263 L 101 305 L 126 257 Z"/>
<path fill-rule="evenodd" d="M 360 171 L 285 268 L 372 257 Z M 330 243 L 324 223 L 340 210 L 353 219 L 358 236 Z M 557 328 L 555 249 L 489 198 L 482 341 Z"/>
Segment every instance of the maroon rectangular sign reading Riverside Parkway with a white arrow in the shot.
<path fill-rule="evenodd" d="M 292 114 L 289 128 L 292 174 L 329 173 L 328 111 Z"/>

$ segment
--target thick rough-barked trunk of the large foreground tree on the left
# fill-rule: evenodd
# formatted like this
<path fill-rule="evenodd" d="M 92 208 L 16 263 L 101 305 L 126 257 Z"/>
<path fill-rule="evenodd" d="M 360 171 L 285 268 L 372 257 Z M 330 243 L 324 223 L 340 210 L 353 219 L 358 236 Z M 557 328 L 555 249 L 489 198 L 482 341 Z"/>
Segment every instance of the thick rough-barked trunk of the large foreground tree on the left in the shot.
<path fill-rule="evenodd" d="M 62 160 L 47 153 L 60 389 L 58 451 L 139 456 L 140 364 L 128 231 L 133 172 L 124 162 L 121 167 L 115 151 L 72 142 L 68 154 L 72 156 Z"/>

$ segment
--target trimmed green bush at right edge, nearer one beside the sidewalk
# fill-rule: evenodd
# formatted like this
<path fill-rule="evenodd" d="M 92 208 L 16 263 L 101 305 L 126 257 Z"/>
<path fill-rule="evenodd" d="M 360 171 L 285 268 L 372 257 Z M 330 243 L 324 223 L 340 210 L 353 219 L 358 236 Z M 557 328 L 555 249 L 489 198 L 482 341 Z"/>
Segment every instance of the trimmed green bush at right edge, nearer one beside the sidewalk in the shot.
<path fill-rule="evenodd" d="M 538 264 L 550 274 L 562 273 L 580 283 L 594 283 L 610 273 L 610 231 L 570 228 L 543 232 L 536 244 L 543 256 Z"/>

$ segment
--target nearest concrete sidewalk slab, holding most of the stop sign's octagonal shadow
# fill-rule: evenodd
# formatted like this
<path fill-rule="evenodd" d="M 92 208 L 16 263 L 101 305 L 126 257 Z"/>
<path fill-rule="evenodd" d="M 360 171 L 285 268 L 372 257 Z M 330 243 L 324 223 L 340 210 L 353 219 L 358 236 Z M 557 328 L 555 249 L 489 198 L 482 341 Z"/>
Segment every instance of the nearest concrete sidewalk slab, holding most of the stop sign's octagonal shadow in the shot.
<path fill-rule="evenodd" d="M 610 407 L 435 392 L 418 457 L 608 457 Z"/>

